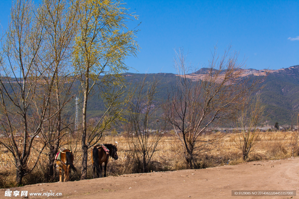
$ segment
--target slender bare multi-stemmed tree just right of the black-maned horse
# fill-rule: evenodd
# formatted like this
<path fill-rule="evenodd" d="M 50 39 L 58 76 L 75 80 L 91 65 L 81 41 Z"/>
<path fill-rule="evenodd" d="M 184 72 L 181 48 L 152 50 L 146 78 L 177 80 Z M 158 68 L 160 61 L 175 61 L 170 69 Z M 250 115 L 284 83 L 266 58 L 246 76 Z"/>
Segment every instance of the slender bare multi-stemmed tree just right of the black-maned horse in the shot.
<path fill-rule="evenodd" d="M 134 97 L 128 108 L 126 131 L 132 151 L 132 158 L 147 172 L 166 125 L 157 115 L 161 114 L 161 101 L 158 99 L 160 81 L 153 76 L 146 81 L 147 75 L 138 82 Z M 150 129 L 153 129 L 150 131 Z"/>

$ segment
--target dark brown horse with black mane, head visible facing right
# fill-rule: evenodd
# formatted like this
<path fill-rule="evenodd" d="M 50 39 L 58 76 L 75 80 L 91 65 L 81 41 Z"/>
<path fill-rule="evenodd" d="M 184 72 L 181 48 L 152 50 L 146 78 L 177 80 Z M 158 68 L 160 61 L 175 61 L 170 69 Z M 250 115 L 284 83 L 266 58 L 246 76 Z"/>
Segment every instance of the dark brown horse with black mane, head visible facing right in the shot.
<path fill-rule="evenodd" d="M 112 144 L 104 144 L 104 146 L 109 149 L 109 155 L 117 160 L 118 155 L 117 155 L 117 147 L 116 145 Z M 95 155 L 94 155 L 95 154 Z M 97 154 L 97 155 L 96 155 Z M 93 178 L 95 178 L 95 169 L 97 169 L 97 178 L 102 178 L 102 164 L 103 162 L 105 163 L 104 167 L 104 177 L 106 177 L 106 170 L 107 170 L 107 163 L 109 160 L 109 155 L 104 151 L 103 147 L 100 145 L 94 146 L 94 148 L 91 150 L 91 162 L 93 166 Z"/>

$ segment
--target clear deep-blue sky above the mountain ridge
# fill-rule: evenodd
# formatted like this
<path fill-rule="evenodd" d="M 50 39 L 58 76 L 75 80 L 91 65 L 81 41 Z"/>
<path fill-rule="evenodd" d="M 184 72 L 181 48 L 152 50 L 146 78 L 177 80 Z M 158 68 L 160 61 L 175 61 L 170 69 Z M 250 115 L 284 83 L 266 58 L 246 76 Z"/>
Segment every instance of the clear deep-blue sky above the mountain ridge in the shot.
<path fill-rule="evenodd" d="M 0 21 L 7 27 L 11 1 L 0 0 Z M 232 45 L 254 69 L 299 64 L 299 1 L 141 1 L 124 0 L 139 20 L 141 49 L 126 64 L 140 73 L 173 72 L 174 49 L 202 67 L 217 44 L 221 55 Z M 289 38 L 289 39 L 288 39 Z M 130 69 L 129 72 L 136 72 Z"/>

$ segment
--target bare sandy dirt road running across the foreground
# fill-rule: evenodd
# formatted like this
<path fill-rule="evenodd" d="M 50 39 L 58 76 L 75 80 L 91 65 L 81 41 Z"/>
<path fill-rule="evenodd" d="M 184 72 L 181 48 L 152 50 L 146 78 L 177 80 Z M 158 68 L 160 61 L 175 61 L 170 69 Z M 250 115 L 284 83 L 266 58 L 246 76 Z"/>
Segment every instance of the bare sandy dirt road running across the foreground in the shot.
<path fill-rule="evenodd" d="M 208 169 L 42 183 L 10 190 L 42 194 L 62 193 L 62 196 L 28 196 L 28 198 L 291 198 L 291 196 L 232 196 L 232 190 L 299 190 L 298 166 L 299 158 L 288 158 Z M 0 190 L 0 198 L 22 198 L 4 197 L 4 192 L 5 189 Z"/>

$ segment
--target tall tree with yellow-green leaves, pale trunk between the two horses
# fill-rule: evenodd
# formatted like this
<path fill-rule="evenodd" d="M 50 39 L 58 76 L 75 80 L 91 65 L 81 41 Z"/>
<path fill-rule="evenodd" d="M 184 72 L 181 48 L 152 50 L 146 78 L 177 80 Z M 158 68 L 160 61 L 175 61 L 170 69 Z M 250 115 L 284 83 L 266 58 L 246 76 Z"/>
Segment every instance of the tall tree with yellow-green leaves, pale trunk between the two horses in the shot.
<path fill-rule="evenodd" d="M 119 1 L 83 0 L 80 8 L 74 62 L 80 71 L 83 91 L 83 180 L 87 175 L 86 110 L 89 94 L 97 84 L 104 87 L 105 84 L 112 83 L 105 81 L 105 78 L 100 80 L 100 75 L 114 76 L 117 81 L 113 84 L 121 84 L 122 78 L 119 73 L 127 70 L 123 60 L 127 55 L 135 55 L 138 45 L 134 41 L 136 31 L 128 30 L 126 25 L 126 20 L 137 17 L 129 14 L 128 9 Z"/>

